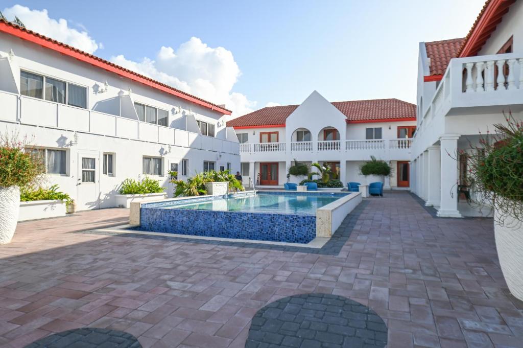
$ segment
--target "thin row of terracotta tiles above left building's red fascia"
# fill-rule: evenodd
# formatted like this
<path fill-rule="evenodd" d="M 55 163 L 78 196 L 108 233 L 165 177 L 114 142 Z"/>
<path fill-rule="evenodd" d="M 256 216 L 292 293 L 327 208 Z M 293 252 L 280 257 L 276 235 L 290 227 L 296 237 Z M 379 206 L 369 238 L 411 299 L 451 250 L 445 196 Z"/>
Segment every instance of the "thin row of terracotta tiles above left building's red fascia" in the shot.
<path fill-rule="evenodd" d="M 63 43 L 63 42 L 56 41 L 56 40 L 54 40 L 54 39 L 48 38 L 47 36 L 41 35 L 41 34 L 39 34 L 38 32 L 35 32 L 35 31 L 32 31 L 32 30 L 29 30 L 29 29 L 27 29 L 27 28 L 22 28 L 22 27 L 20 27 L 20 26 L 14 24 L 14 23 L 11 23 L 11 22 L 9 22 L 9 21 L 5 21 L 5 20 L 3 20 L 3 19 L 0 19 L 0 25 L 1 25 L 1 24 L 4 24 L 4 25 L 7 25 L 7 26 L 10 26 L 10 27 L 16 28 L 16 29 L 18 29 L 18 30 L 20 30 L 20 31 L 23 31 L 23 32 L 26 32 L 26 33 L 28 33 L 28 34 L 30 34 L 30 35 L 36 37 L 36 38 L 40 38 L 40 39 L 43 39 L 43 40 L 49 41 L 49 42 L 51 42 L 51 43 L 54 43 L 54 44 L 56 44 L 56 45 L 58 45 L 58 46 L 61 46 L 61 47 L 65 48 L 65 49 L 67 49 L 67 50 L 71 50 L 71 51 L 73 51 L 73 52 L 76 52 L 76 53 L 79 53 L 79 54 L 85 55 L 85 57 L 88 57 L 88 58 L 94 59 L 94 60 L 96 60 L 96 61 L 98 61 L 98 62 L 100 62 L 100 63 L 102 63 L 102 64 L 109 65 L 109 66 L 111 66 L 111 67 L 113 67 L 113 68 L 116 68 L 117 70 L 122 71 L 122 72 L 126 72 L 126 73 L 129 73 L 129 74 L 132 74 L 132 75 L 134 75 L 134 76 L 136 76 L 136 77 L 138 77 L 138 78 L 140 78 L 140 79 L 142 79 L 142 80 L 150 81 L 150 82 L 152 82 L 154 85 L 156 85 L 156 86 L 158 86 L 158 87 L 164 87 L 164 88 L 167 88 L 167 89 L 169 89 L 169 90 L 171 90 L 171 91 L 174 91 L 174 92 L 176 92 L 176 93 L 178 93 L 178 94 L 185 95 L 185 96 L 187 96 L 187 97 L 190 98 L 190 99 L 196 99 L 196 100 L 199 100 L 200 102 L 203 102 L 203 103 L 205 103 L 205 104 L 209 104 L 210 106 L 213 106 L 213 107 L 217 108 L 217 109 L 218 109 L 217 111 L 224 110 L 224 111 L 228 111 L 229 114 L 231 113 L 231 110 L 225 109 L 222 105 L 214 104 L 214 103 L 208 102 L 207 100 L 204 100 L 204 99 L 198 98 L 197 96 L 194 96 L 194 95 L 192 95 L 192 94 L 186 93 L 186 92 L 184 92 L 184 91 L 180 91 L 180 90 L 177 89 L 177 88 L 174 88 L 174 87 L 171 87 L 171 86 L 166 85 L 166 84 L 164 84 L 164 83 L 161 83 L 161 82 L 159 82 L 159 81 L 153 80 L 153 79 L 150 78 L 150 77 L 147 77 L 147 76 L 141 75 L 141 74 L 139 74 L 139 73 L 137 73 L 137 72 L 134 72 L 134 71 L 132 71 L 132 70 L 129 70 L 129 69 L 123 68 L 123 66 L 120 66 L 120 65 L 117 65 L 117 64 L 115 64 L 115 63 L 111 63 L 111 62 L 109 62 L 109 61 L 107 61 L 107 60 L 105 60 L 105 59 L 102 59 L 102 58 L 96 57 L 96 55 L 93 55 L 93 54 L 90 54 L 90 53 L 84 52 L 84 51 L 82 51 L 82 50 L 79 50 L 79 49 L 77 49 L 77 48 L 74 48 L 74 47 L 72 47 L 72 46 L 69 46 L 69 45 L 66 44 L 66 43 Z M 0 28 L 0 32 L 5 32 L 5 30 L 2 30 L 2 28 Z M 8 33 L 9 33 L 9 32 L 8 32 Z"/>

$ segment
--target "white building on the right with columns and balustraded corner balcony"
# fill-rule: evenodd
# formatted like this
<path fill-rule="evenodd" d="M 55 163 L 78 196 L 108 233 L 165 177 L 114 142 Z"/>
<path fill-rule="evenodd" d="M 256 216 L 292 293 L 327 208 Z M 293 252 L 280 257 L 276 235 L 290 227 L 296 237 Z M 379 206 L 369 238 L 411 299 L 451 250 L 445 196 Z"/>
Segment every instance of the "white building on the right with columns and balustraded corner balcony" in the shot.
<path fill-rule="evenodd" d="M 459 190 L 474 195 L 469 142 L 503 124 L 503 111 L 523 119 L 522 19 L 522 1 L 490 0 L 466 38 L 419 44 L 411 190 L 439 216 L 489 211 L 472 209 Z"/>

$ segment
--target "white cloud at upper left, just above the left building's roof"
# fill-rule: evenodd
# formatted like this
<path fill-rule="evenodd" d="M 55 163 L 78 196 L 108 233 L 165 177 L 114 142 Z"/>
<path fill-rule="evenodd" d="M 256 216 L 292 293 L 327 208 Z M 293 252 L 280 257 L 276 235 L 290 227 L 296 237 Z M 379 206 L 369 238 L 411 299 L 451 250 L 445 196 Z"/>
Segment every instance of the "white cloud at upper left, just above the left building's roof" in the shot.
<path fill-rule="evenodd" d="M 86 30 L 78 31 L 71 28 L 67 24 L 67 20 L 63 18 L 58 20 L 49 18 L 47 9 L 39 11 L 31 10 L 26 6 L 14 5 L 5 8 L 2 13 L 8 20 L 13 20 L 17 16 L 28 29 L 67 43 L 82 51 L 94 53 L 101 47 L 101 44 L 90 37 Z"/>

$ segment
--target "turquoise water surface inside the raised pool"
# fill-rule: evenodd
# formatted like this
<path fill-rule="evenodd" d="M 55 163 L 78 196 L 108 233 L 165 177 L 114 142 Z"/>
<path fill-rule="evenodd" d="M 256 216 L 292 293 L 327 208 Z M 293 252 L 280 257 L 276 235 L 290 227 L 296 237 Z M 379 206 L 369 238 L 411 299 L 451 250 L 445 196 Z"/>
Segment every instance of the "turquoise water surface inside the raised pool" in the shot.
<path fill-rule="evenodd" d="M 316 209 L 339 199 L 339 195 L 274 195 L 258 193 L 163 206 L 163 209 L 240 211 L 265 214 L 316 215 Z"/>

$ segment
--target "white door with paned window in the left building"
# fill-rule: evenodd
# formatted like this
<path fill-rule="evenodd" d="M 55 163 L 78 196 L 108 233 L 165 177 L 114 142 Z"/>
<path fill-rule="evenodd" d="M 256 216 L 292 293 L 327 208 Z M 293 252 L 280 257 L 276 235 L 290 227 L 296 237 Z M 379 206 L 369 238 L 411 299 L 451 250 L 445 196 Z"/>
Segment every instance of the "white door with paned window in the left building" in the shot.
<path fill-rule="evenodd" d="M 76 209 L 100 208 L 100 153 L 78 151 Z"/>

